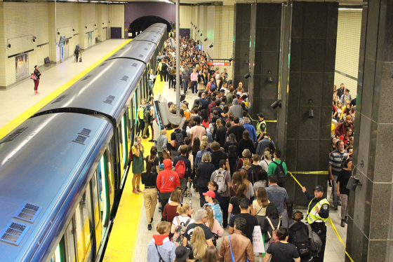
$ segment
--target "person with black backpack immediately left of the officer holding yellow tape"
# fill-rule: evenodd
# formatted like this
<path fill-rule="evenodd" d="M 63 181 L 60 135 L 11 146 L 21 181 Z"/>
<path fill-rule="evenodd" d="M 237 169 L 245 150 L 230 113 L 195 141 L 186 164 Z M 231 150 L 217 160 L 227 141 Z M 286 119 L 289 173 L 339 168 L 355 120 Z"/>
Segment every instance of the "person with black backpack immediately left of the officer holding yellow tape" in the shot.
<path fill-rule="evenodd" d="M 300 256 L 300 262 L 311 259 L 311 247 L 309 243 L 309 225 L 302 222 L 303 213 L 295 211 L 292 216 L 293 222 L 288 228 L 288 242 L 294 244 Z"/>

